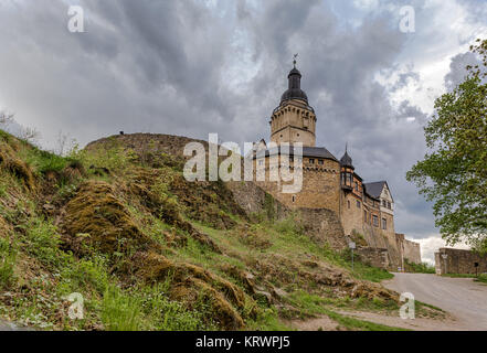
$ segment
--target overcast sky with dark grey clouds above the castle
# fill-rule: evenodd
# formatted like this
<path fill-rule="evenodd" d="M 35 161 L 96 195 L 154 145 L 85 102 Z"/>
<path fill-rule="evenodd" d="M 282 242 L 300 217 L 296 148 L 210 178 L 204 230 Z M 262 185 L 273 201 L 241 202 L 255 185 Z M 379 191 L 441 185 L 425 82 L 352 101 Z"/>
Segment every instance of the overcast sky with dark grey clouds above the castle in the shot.
<path fill-rule="evenodd" d="M 67 30 L 70 6 L 85 32 Z M 400 31 L 401 8 L 415 32 Z M 442 246 L 431 205 L 404 179 L 425 150 L 434 99 L 487 38 L 483 0 L 0 0 L 0 109 L 56 148 L 126 132 L 268 140 L 293 54 L 317 143 L 349 143 L 366 181 L 388 180 L 395 228 L 423 257 Z"/>

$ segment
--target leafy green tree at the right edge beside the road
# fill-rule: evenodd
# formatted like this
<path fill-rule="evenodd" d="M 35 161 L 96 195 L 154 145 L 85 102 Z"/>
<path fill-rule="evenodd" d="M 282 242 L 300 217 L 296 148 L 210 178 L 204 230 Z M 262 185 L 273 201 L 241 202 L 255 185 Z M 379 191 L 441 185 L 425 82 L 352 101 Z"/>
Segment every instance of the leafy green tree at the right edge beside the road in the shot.
<path fill-rule="evenodd" d="M 465 81 L 435 101 L 424 128 L 430 152 L 406 179 L 434 202 L 436 226 L 448 245 L 466 242 L 487 253 L 487 40 Z"/>

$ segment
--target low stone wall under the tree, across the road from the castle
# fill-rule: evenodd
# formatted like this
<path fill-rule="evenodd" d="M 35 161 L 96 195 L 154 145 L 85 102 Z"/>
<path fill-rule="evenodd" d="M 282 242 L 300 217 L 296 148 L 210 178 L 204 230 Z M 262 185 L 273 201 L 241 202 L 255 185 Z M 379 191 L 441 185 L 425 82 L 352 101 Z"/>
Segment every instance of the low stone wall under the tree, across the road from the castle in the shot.
<path fill-rule="evenodd" d="M 443 258 L 446 255 L 446 259 Z M 472 250 L 441 248 L 435 254 L 436 274 L 475 274 L 475 263 L 479 266 L 478 274 L 487 272 L 487 256 L 480 256 Z"/>

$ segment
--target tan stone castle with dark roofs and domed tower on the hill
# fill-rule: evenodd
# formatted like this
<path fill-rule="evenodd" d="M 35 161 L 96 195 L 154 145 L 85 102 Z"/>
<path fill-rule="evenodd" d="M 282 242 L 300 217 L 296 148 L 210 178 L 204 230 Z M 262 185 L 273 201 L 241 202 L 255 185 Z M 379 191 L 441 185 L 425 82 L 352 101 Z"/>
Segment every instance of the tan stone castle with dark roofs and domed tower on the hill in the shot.
<path fill-rule="evenodd" d="M 329 210 L 339 218 L 348 239 L 362 240 L 361 250 L 375 257 L 382 267 L 404 267 L 404 259 L 421 263 L 420 245 L 406 240 L 394 228 L 394 199 L 387 181 L 366 183 L 346 149 L 338 160 L 325 147 L 316 147 L 317 116 L 300 86 L 301 74 L 294 68 L 288 89 L 271 117 L 271 141 L 289 145 L 289 165 L 295 158 L 303 165 L 303 186 L 297 193 L 283 193 L 268 175 L 258 186 L 290 210 Z M 303 154 L 293 145 L 303 143 Z M 258 151 L 258 153 L 257 153 Z M 279 168 L 278 153 L 262 140 L 254 153 L 255 169 Z M 263 153 L 264 151 L 264 153 Z M 258 156 L 262 156 L 260 158 Z M 377 259 L 379 258 L 379 259 Z"/>

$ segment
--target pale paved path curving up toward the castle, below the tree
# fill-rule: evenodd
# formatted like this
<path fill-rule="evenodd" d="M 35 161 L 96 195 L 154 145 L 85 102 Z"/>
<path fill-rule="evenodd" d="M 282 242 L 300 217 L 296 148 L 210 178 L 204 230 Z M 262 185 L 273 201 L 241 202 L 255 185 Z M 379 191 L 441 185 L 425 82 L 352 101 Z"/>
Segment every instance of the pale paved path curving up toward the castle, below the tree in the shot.
<path fill-rule="evenodd" d="M 447 311 L 455 321 L 444 322 L 444 329 L 487 330 L 487 286 L 472 278 L 394 274 L 393 279 L 382 284 L 400 293 L 411 292 L 416 300 Z"/>

